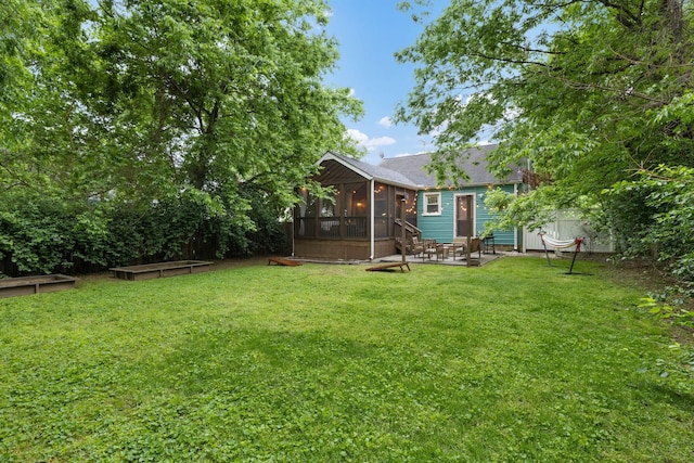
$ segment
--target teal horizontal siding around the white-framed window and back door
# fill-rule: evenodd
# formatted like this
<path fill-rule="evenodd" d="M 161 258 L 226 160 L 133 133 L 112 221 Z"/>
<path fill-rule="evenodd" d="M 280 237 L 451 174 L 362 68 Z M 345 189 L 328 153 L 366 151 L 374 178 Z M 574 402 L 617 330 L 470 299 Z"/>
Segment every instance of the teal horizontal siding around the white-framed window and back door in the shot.
<path fill-rule="evenodd" d="M 513 193 L 513 185 L 500 187 L 503 191 Z M 488 210 L 484 204 L 484 195 L 487 193 L 485 187 L 473 187 L 461 190 L 426 190 L 417 193 L 417 227 L 422 230 L 424 239 L 434 239 L 440 243 L 450 243 L 455 236 L 455 196 L 475 195 L 475 230 L 479 235 L 485 230 L 485 223 L 493 218 L 493 213 Z M 440 216 L 425 216 L 423 214 L 424 194 L 441 194 Z M 513 230 L 494 230 L 496 244 L 513 245 Z"/>

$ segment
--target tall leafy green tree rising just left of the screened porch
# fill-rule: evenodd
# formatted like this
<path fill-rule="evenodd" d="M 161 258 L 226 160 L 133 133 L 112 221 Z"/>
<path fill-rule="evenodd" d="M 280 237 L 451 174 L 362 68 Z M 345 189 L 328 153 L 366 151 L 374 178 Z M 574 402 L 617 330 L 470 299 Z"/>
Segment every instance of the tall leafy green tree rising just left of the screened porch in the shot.
<path fill-rule="evenodd" d="M 107 111 L 141 157 L 190 188 L 234 200 L 240 182 L 291 192 L 317 155 L 343 143 L 339 115 L 359 111 L 346 90 L 321 83 L 337 59 L 321 31 L 326 10 L 323 1 L 105 3 L 97 52 L 108 67 Z"/>

